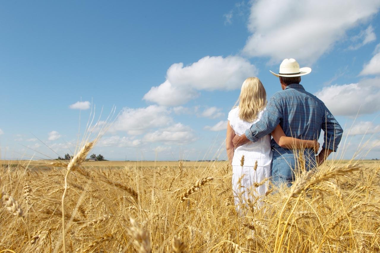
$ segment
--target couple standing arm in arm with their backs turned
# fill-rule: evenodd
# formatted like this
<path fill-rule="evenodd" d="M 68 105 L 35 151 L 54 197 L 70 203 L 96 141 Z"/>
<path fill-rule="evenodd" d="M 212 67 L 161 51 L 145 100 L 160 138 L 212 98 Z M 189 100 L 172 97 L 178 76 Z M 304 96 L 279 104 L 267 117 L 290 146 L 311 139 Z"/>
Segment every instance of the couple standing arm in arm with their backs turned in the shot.
<path fill-rule="evenodd" d="M 299 150 L 303 152 L 307 170 L 336 152 L 343 134 L 341 126 L 325 104 L 299 84 L 301 76 L 310 72 L 310 68 L 299 68 L 294 59 L 283 60 L 278 74 L 271 71 L 279 77 L 282 90 L 274 93 L 268 103 L 257 77 L 244 81 L 239 106 L 228 114 L 226 138 L 236 205 L 239 198 L 249 199 L 249 194 L 264 195 L 268 183 L 257 183 L 266 177 L 271 177 L 277 187 L 283 183 L 289 187 L 294 170 L 298 169 Z M 324 143 L 316 156 L 321 130 L 325 132 Z M 260 186 L 252 189 L 254 185 Z"/>

